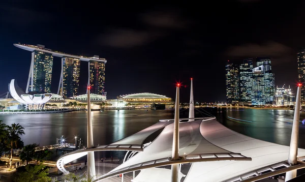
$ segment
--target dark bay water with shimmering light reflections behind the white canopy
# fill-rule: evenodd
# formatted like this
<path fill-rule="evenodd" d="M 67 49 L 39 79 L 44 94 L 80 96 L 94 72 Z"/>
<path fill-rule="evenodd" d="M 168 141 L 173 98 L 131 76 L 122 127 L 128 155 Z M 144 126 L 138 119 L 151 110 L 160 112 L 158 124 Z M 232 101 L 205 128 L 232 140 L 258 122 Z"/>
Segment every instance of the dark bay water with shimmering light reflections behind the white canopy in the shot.
<path fill-rule="evenodd" d="M 244 109 L 244 108 L 205 108 L 206 111 L 217 116 L 219 122 L 226 127 L 254 137 L 257 139 L 289 145 L 291 134 L 291 123 L 293 119 L 292 110 L 272 110 L 272 109 Z M 94 144 L 110 144 L 130 136 L 144 128 L 154 125 L 159 119 L 173 118 L 173 110 L 112 110 L 93 111 L 93 132 Z M 187 117 L 188 110 L 185 115 Z M 197 113 L 197 114 L 196 114 Z M 196 112 L 196 117 L 201 117 Z M 236 122 L 227 117 L 249 120 L 249 122 Z M 305 118 L 305 112 L 301 112 L 300 120 Z M 87 139 L 87 112 L 76 111 L 69 113 L 54 114 L 20 114 L 20 115 L 0 115 L 0 120 L 11 125 L 19 123 L 25 128 L 25 135 L 21 136 L 24 144 L 39 143 L 41 146 L 56 143 L 56 137 L 64 135 L 68 142 L 74 143 L 74 136 L 77 135 L 83 140 L 86 146 Z M 305 126 L 300 124 L 299 147 L 305 148 Z M 124 154 L 124 153 L 123 153 Z M 101 156 L 122 156 L 119 152 L 98 153 Z"/>

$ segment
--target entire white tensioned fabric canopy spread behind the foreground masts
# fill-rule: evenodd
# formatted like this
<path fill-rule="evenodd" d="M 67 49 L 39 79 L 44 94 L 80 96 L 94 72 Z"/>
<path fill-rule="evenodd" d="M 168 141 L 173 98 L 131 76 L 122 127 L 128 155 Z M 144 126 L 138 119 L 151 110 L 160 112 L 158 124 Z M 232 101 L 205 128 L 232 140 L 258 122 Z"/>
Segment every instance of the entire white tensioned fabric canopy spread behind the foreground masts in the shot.
<path fill-rule="evenodd" d="M 195 120 L 179 123 L 179 155 L 241 153 L 252 161 L 214 161 L 197 162 L 185 179 L 190 181 L 225 181 L 240 174 L 288 159 L 289 147 L 254 139 L 234 132 L 217 120 Z M 163 132 L 144 151 L 121 164 L 113 171 L 161 158 L 171 157 L 173 124 Z M 298 149 L 298 156 L 305 156 L 305 149 Z"/>

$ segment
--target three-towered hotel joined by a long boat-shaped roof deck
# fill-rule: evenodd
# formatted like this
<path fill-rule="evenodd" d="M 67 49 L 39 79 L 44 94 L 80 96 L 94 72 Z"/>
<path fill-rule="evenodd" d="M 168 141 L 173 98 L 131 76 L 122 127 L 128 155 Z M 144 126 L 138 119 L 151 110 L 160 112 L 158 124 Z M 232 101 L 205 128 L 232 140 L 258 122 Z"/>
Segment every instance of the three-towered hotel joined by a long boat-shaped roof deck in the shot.
<path fill-rule="evenodd" d="M 62 57 L 62 71 L 57 94 L 64 98 L 77 96 L 79 87 L 80 61 L 88 62 L 88 84 L 92 89 L 90 93 L 104 96 L 105 64 L 107 60 L 93 57 L 77 56 L 63 52 L 53 51 L 44 45 L 14 44 L 14 46 L 32 51 L 31 67 L 29 69 L 26 84 L 26 93 L 37 92 L 37 94 L 51 93 L 51 77 L 53 57 Z"/>

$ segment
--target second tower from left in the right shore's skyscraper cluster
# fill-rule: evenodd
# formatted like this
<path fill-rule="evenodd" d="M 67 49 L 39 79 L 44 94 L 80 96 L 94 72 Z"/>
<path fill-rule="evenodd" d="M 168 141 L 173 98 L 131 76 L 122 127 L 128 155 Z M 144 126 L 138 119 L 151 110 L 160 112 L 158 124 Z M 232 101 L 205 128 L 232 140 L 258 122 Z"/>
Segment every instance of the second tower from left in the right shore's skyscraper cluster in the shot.
<path fill-rule="evenodd" d="M 240 102 L 251 103 L 253 58 L 243 59 L 239 66 L 239 97 Z"/>

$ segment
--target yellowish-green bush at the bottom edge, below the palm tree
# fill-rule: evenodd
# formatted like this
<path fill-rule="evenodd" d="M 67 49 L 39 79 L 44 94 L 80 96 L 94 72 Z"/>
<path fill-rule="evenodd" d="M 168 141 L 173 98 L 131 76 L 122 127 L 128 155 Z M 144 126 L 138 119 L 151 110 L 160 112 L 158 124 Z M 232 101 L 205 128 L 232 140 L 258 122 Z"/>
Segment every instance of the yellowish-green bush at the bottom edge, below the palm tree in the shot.
<path fill-rule="evenodd" d="M 20 172 L 15 178 L 16 182 L 45 182 L 51 181 L 51 178 L 48 177 L 48 168 L 43 165 L 26 165 L 25 171 Z"/>

